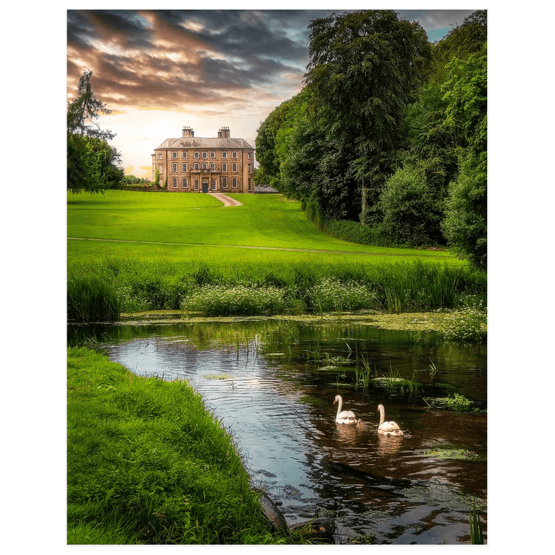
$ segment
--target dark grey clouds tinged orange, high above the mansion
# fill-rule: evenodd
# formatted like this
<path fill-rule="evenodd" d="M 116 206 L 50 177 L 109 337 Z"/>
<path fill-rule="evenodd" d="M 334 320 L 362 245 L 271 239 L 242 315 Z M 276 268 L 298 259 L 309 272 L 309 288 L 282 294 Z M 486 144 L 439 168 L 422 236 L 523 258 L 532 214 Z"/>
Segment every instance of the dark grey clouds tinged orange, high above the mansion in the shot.
<path fill-rule="evenodd" d="M 95 91 L 109 104 L 246 103 L 246 92 L 281 76 L 302 80 L 306 45 L 286 36 L 284 19 L 257 11 L 70 10 L 69 99 L 91 69 Z"/>

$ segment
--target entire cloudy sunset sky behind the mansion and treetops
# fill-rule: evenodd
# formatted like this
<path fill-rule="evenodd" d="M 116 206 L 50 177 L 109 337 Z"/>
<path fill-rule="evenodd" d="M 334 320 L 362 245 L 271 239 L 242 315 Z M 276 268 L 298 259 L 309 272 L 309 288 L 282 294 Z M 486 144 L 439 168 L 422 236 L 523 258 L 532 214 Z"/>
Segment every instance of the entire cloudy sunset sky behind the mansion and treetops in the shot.
<path fill-rule="evenodd" d="M 255 146 L 260 123 L 302 88 L 309 22 L 333 11 L 67 10 L 67 101 L 92 71 L 112 110 L 97 122 L 138 177 L 151 176 L 154 148 L 184 126 L 196 137 L 228 126 Z M 433 42 L 474 10 L 395 11 Z"/>

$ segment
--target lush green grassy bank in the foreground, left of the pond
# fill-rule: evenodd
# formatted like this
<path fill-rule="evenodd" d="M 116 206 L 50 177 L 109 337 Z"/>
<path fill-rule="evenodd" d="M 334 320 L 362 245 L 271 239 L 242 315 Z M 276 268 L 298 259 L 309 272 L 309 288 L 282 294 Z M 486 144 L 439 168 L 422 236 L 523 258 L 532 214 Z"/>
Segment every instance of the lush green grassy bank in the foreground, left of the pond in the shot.
<path fill-rule="evenodd" d="M 69 544 L 272 544 L 230 434 L 186 382 L 67 357 Z"/>

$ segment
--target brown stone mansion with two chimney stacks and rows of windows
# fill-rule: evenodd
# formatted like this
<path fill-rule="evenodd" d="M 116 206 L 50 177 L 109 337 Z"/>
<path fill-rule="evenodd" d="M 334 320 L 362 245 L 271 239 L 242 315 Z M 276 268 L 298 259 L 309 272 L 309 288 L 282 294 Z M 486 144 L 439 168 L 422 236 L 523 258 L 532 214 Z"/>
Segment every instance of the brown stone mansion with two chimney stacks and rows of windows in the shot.
<path fill-rule="evenodd" d="M 222 127 L 218 137 L 195 137 L 184 127 L 179 139 L 166 139 L 152 155 L 153 182 L 167 183 L 169 192 L 254 193 L 255 149 L 244 139 L 230 137 Z"/>

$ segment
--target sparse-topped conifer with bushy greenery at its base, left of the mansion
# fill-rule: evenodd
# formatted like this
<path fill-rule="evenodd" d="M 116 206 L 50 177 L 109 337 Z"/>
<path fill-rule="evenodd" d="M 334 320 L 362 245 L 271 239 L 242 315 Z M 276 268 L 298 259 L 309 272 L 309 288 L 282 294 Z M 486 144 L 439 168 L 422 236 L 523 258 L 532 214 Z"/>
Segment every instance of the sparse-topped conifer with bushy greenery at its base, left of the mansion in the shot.
<path fill-rule="evenodd" d="M 94 96 L 91 76 L 83 72 L 78 96 L 67 105 L 67 190 L 73 193 L 113 189 L 123 178 L 121 155 L 108 144 L 115 134 L 94 122 L 111 110 Z"/>

